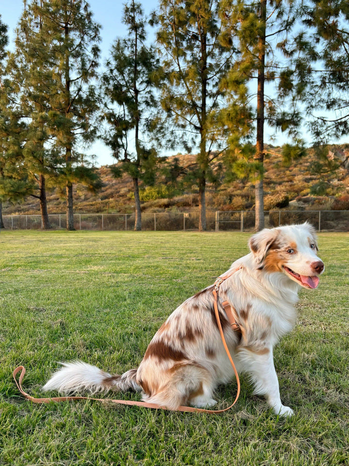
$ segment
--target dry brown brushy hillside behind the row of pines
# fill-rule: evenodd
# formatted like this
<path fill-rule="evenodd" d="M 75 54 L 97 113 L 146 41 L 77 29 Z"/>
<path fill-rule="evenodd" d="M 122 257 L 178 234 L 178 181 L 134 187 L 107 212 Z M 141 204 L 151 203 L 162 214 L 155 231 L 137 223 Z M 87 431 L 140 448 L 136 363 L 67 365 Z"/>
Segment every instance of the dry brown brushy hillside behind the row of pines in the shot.
<path fill-rule="evenodd" d="M 337 148 L 343 149 L 343 146 Z M 345 167 L 337 154 L 334 159 L 337 167 L 321 176 L 315 173 L 317 159 L 313 151 L 292 162 L 290 166 L 282 164 L 280 148 L 267 146 L 265 157 L 265 209 L 294 208 L 349 210 L 349 169 Z M 336 152 L 335 150 L 333 150 Z M 345 153 L 346 150 L 344 151 Z M 342 151 L 343 153 L 343 151 Z M 331 158 L 330 152 L 329 158 Z M 185 165 L 193 161 L 194 155 L 175 155 L 179 164 Z M 332 157 L 333 158 L 333 157 Z M 341 164 L 341 165 L 340 165 Z M 74 187 L 74 210 L 76 213 L 131 213 L 133 211 L 132 180 L 124 175 L 115 179 L 110 166 L 99 169 L 103 180 L 103 188 L 96 194 L 82 185 Z M 219 175 L 219 159 L 215 166 Z M 49 184 L 49 183 L 48 183 Z M 142 184 L 141 184 L 142 187 Z M 157 179 L 156 187 L 143 187 L 143 212 L 191 212 L 197 210 L 198 196 L 195 186 L 184 188 L 180 195 L 167 197 L 169 188 L 163 178 Z M 178 194 L 178 192 L 176 193 Z M 57 189 L 48 189 L 48 213 L 64 214 L 65 199 Z M 247 180 L 235 180 L 222 183 L 218 188 L 212 184 L 206 190 L 207 210 L 249 210 L 254 207 L 254 185 Z M 24 202 L 3 204 L 3 214 L 39 214 L 39 201 L 28 197 Z"/>

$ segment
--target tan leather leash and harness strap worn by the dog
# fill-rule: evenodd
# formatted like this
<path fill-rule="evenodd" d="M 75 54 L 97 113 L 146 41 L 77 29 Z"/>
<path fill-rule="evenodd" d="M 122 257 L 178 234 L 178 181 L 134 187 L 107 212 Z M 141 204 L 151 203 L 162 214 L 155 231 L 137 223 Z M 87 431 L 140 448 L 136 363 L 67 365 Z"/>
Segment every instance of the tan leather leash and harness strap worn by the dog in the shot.
<path fill-rule="evenodd" d="M 18 366 L 13 371 L 13 377 L 15 379 L 18 390 L 20 391 L 20 393 L 26 399 L 28 399 L 29 401 L 32 401 L 32 403 L 40 403 L 40 404 L 41 403 L 50 403 L 51 401 L 60 402 L 60 401 L 72 401 L 72 400 L 78 400 L 78 399 L 90 399 L 92 401 L 100 401 L 102 403 L 126 404 L 128 406 L 143 406 L 143 408 L 163 409 L 163 410 L 169 410 L 169 411 L 182 411 L 182 412 L 189 412 L 189 413 L 220 414 L 220 413 L 224 413 L 224 411 L 228 411 L 238 401 L 238 397 L 240 395 L 240 380 L 239 380 L 239 377 L 238 377 L 238 371 L 237 371 L 237 369 L 235 367 L 233 358 L 231 357 L 231 354 L 230 354 L 230 351 L 228 349 L 228 345 L 226 344 L 226 341 L 225 341 L 225 338 L 224 338 L 224 333 L 223 333 L 223 330 L 222 330 L 222 324 L 221 324 L 221 319 L 220 319 L 219 310 L 218 310 L 218 291 L 219 291 L 219 287 L 221 286 L 222 282 L 224 280 L 226 280 L 227 278 L 229 278 L 234 272 L 236 272 L 240 268 L 241 267 L 239 267 L 236 270 L 233 270 L 230 273 L 227 273 L 227 274 L 225 274 L 223 276 L 218 277 L 216 282 L 214 283 L 214 289 L 212 291 L 212 294 L 213 294 L 213 297 L 214 297 L 213 307 L 214 307 L 214 311 L 215 311 L 215 316 L 216 316 L 216 320 L 217 320 L 218 329 L 219 329 L 220 334 L 221 334 L 224 349 L 225 349 L 225 351 L 227 353 L 230 364 L 232 365 L 232 367 L 234 369 L 235 377 L 236 377 L 237 384 L 238 384 L 238 390 L 237 390 L 237 395 L 235 397 L 235 400 L 230 406 L 228 406 L 228 408 L 219 409 L 219 410 L 211 410 L 211 409 L 204 409 L 204 408 L 194 408 L 194 407 L 191 407 L 191 406 L 179 406 L 178 408 L 171 409 L 171 408 L 167 408 L 166 406 L 160 406 L 159 404 L 156 404 L 156 403 L 147 403 L 146 401 L 132 401 L 132 400 L 125 400 L 125 399 L 91 398 L 91 397 L 34 398 L 31 395 L 28 395 L 28 393 L 26 393 L 22 388 L 22 381 L 23 381 L 24 374 L 26 372 L 24 366 Z M 222 302 L 222 306 L 223 306 L 223 308 L 224 308 L 224 310 L 226 312 L 226 315 L 228 317 L 231 328 L 235 332 L 238 332 L 240 330 L 240 327 L 239 327 L 238 323 L 236 322 L 236 318 L 234 316 L 234 314 L 236 315 L 236 311 L 235 311 L 234 307 L 231 304 L 229 304 L 228 301 Z M 18 372 L 20 372 L 19 380 L 17 380 Z"/>

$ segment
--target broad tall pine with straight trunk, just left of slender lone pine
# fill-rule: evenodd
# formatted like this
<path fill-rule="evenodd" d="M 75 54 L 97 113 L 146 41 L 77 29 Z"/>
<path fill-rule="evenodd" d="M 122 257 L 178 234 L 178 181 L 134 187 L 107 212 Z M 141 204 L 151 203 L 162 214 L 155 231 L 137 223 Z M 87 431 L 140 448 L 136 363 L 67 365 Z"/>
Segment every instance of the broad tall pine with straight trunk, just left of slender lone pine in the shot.
<path fill-rule="evenodd" d="M 73 183 L 96 188 L 99 177 L 77 148 L 94 140 L 100 26 L 84 0 L 32 0 L 18 28 L 16 68 L 23 76 L 22 107 L 30 116 L 24 159 L 54 170 L 64 183 L 67 229 L 74 229 Z M 82 160 L 82 162 L 81 162 Z M 45 172 L 44 172 L 45 174 Z"/>

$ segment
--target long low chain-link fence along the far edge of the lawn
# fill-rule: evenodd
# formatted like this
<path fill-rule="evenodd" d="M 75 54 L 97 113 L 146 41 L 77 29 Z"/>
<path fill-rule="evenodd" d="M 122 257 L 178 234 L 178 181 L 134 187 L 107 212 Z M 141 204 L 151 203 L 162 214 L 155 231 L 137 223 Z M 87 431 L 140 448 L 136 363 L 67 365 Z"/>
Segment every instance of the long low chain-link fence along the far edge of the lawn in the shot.
<path fill-rule="evenodd" d="M 306 220 L 317 230 L 348 232 L 349 211 L 347 210 L 270 210 L 264 213 L 266 227 L 287 223 L 302 223 Z M 66 228 L 65 214 L 50 214 L 53 229 Z M 40 215 L 4 215 L 3 222 L 8 230 L 40 230 Z M 133 230 L 134 214 L 75 214 L 76 230 Z M 251 231 L 254 229 L 254 211 L 207 211 L 207 230 L 211 231 Z M 143 231 L 186 231 L 199 229 L 198 212 L 157 212 L 142 214 Z"/>

